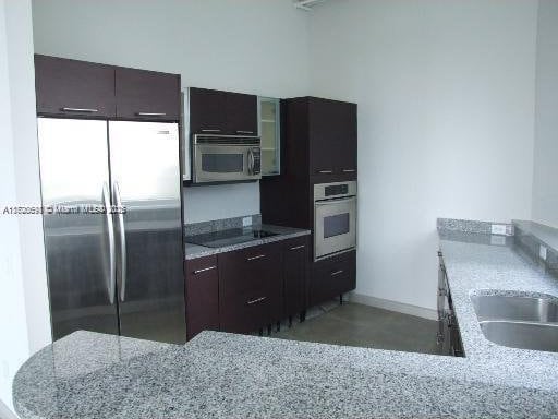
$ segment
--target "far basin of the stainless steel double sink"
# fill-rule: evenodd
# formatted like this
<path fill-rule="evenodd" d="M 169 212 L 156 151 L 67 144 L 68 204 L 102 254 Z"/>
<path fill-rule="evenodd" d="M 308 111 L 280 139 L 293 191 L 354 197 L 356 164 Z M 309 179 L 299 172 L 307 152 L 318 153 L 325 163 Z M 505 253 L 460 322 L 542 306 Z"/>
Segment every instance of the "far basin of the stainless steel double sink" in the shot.
<path fill-rule="evenodd" d="M 478 321 L 558 322 L 558 304 L 547 298 L 521 296 L 471 297 Z"/>

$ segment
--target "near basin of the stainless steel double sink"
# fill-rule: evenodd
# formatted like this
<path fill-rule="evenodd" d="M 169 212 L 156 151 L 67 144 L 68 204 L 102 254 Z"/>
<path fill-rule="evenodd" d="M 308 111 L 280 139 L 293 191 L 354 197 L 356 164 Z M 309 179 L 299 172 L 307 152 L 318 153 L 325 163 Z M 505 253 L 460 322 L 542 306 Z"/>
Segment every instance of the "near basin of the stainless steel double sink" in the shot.
<path fill-rule="evenodd" d="M 558 324 L 484 321 L 481 330 L 495 344 L 520 349 L 558 352 Z"/>

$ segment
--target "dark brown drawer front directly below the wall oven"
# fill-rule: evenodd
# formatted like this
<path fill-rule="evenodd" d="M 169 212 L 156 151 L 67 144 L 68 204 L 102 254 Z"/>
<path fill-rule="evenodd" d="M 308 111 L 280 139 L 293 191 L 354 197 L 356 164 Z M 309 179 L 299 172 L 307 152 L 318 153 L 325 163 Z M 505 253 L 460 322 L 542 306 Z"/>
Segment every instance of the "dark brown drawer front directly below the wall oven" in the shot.
<path fill-rule="evenodd" d="M 356 251 L 315 262 L 308 285 L 308 306 L 319 304 L 356 286 Z"/>

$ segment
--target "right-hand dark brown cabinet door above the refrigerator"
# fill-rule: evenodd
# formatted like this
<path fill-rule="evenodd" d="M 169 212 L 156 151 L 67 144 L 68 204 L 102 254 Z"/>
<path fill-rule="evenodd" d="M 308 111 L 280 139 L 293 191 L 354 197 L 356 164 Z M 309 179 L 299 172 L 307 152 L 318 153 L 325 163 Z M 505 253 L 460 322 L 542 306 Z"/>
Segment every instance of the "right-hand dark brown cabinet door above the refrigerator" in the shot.
<path fill-rule="evenodd" d="M 180 119 L 180 75 L 116 69 L 117 117 L 122 119 Z"/>

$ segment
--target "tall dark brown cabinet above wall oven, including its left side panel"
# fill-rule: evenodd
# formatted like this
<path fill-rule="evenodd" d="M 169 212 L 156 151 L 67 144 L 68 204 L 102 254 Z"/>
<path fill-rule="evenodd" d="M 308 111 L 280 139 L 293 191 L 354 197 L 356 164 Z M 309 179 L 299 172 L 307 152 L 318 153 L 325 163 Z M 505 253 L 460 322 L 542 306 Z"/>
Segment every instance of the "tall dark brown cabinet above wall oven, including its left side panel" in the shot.
<path fill-rule="evenodd" d="M 264 223 L 314 228 L 313 185 L 356 180 L 356 123 L 355 104 L 281 100 L 281 175 L 259 182 Z"/>

